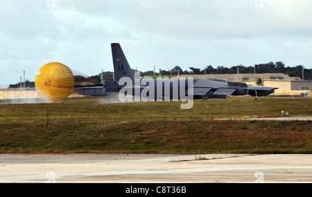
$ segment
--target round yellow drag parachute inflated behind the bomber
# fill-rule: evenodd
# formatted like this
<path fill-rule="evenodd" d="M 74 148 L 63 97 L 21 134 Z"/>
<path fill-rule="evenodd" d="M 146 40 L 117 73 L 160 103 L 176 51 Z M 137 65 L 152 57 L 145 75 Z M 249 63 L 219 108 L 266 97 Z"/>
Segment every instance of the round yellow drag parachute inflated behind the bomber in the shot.
<path fill-rule="evenodd" d="M 51 62 L 37 73 L 35 87 L 38 95 L 47 101 L 60 102 L 73 94 L 75 78 L 69 67 Z"/>

